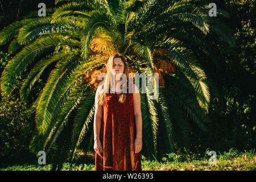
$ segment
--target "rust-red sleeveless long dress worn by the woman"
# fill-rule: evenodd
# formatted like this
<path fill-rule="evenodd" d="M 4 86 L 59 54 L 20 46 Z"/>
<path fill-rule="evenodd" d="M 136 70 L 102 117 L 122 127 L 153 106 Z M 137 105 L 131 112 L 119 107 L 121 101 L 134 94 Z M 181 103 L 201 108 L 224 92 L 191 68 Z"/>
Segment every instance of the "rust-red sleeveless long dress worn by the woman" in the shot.
<path fill-rule="evenodd" d="M 135 154 L 136 125 L 133 113 L 133 93 L 123 104 L 119 94 L 106 93 L 103 102 L 100 142 L 101 155 L 95 154 L 96 171 L 142 171 L 141 152 Z"/>

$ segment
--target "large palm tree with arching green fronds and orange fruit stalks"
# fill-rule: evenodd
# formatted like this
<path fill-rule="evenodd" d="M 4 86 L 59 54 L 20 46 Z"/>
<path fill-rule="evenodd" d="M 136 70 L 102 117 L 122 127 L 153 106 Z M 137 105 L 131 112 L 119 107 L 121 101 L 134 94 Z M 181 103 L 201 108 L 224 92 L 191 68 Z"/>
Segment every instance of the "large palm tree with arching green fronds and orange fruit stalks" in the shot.
<path fill-rule="evenodd" d="M 56 0 L 55 3 L 63 2 Z M 209 4 L 209 3 L 208 3 Z M 191 125 L 207 131 L 210 94 L 218 94 L 196 58 L 201 51 L 212 61 L 214 52 L 203 38 L 219 36 L 234 47 L 232 31 L 221 22 L 228 13 L 208 16 L 204 1 L 66 1 L 10 24 L 0 43 L 10 43 L 15 54 L 1 77 L 1 91 L 11 93 L 15 79 L 29 71 L 20 88 L 27 100 L 35 82 L 47 69 L 48 80 L 34 102 L 36 129 L 31 150 L 51 151 L 57 143 L 60 164 L 78 147 L 93 144 L 96 78 L 104 72 L 109 55 L 121 52 L 131 72 L 151 73 L 156 100 L 149 88 L 141 94 L 142 154 L 161 159 L 174 147 L 188 147 Z M 213 33 L 213 34 L 212 34 Z M 154 73 L 159 74 L 159 95 Z M 61 165 L 60 165 L 61 166 Z M 59 166 L 59 169 L 60 169 Z"/>

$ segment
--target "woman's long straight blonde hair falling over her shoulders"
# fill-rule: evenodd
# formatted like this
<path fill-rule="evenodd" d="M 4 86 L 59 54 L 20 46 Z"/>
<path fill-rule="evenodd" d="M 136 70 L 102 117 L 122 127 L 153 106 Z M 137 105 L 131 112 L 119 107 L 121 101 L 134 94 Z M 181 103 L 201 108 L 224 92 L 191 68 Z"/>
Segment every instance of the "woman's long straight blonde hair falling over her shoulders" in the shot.
<path fill-rule="evenodd" d="M 104 78 L 104 84 L 103 84 L 103 87 L 102 87 L 103 92 L 100 94 L 100 97 L 99 97 L 99 100 L 98 100 L 99 105 L 103 104 L 103 102 L 105 100 L 105 97 L 106 97 L 106 93 L 110 93 L 110 86 L 112 84 L 112 80 L 110 79 L 111 78 L 110 71 L 113 68 L 113 62 L 114 62 L 115 57 L 120 57 L 121 60 L 123 61 L 123 64 L 125 65 L 125 68 L 123 70 L 123 74 L 128 79 L 129 67 L 128 67 L 128 64 L 125 61 L 125 57 L 121 53 L 118 53 L 118 52 L 113 53 L 113 55 L 111 55 L 109 57 L 108 63 L 106 64 L 106 77 Z M 122 81 L 123 81 L 123 79 L 122 79 Z M 125 83 L 124 83 L 124 85 L 125 85 Z M 120 102 L 120 103 L 125 102 L 126 96 L 127 96 L 127 93 L 119 94 L 118 102 Z"/>

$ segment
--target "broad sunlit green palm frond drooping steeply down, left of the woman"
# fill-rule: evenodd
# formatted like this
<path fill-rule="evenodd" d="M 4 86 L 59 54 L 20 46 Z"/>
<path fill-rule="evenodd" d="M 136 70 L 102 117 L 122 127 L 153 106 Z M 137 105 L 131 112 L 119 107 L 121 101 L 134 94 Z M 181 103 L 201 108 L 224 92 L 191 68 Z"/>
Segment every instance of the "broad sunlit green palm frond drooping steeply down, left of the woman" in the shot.
<path fill-rule="evenodd" d="M 36 108 L 36 126 L 39 134 L 45 134 L 48 127 L 53 126 L 56 122 L 52 118 L 57 118 L 61 107 L 56 108 L 55 106 L 66 89 L 72 89 L 70 85 L 75 79 L 75 70 L 81 64 L 80 60 L 76 59 L 77 56 L 73 56 L 71 60 L 59 61 L 56 68 L 50 73 Z M 62 101 L 61 105 L 64 103 Z"/>

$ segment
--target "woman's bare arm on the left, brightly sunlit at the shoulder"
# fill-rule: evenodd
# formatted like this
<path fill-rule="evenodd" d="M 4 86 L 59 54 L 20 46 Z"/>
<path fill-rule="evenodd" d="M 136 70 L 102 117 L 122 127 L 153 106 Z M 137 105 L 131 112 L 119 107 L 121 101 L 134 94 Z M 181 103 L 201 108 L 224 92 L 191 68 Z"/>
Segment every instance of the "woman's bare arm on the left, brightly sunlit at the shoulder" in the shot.
<path fill-rule="evenodd" d="M 100 143 L 100 130 L 101 130 L 101 118 L 102 118 L 102 105 L 98 104 L 98 98 L 102 91 L 102 85 L 98 87 L 95 94 L 95 114 L 93 122 L 93 133 L 94 133 L 94 150 L 96 152 L 102 152 L 102 147 Z"/>

